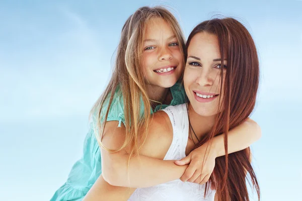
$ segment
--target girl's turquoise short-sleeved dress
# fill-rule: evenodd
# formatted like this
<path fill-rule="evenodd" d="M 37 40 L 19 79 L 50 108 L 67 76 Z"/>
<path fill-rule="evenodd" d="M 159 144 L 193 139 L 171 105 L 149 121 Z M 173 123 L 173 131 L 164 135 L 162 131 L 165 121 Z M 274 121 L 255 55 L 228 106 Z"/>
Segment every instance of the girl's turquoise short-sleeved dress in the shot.
<path fill-rule="evenodd" d="M 185 90 L 180 83 L 176 83 L 170 90 L 173 97 L 171 104 L 159 105 L 152 113 L 168 106 L 185 103 Z M 140 107 L 142 111 L 143 105 L 141 104 Z M 125 124 L 124 106 L 121 95 L 114 94 L 107 121 L 119 121 L 119 126 L 121 122 Z M 101 173 L 100 147 L 95 138 L 94 131 L 92 127 L 90 127 L 84 141 L 83 157 L 74 163 L 67 181 L 55 191 L 50 201 L 82 200 Z"/>

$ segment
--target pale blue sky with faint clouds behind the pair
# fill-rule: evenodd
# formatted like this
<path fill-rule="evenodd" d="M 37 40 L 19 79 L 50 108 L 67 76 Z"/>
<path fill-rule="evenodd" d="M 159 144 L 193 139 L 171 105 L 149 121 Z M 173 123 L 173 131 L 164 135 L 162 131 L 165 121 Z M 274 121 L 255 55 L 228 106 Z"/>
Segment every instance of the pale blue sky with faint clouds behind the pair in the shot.
<path fill-rule="evenodd" d="M 302 1 L 1 1 L 0 199 L 49 200 L 81 157 L 89 111 L 129 15 L 168 5 L 186 37 L 215 14 L 254 37 L 261 85 L 252 146 L 262 200 L 302 190 Z"/>

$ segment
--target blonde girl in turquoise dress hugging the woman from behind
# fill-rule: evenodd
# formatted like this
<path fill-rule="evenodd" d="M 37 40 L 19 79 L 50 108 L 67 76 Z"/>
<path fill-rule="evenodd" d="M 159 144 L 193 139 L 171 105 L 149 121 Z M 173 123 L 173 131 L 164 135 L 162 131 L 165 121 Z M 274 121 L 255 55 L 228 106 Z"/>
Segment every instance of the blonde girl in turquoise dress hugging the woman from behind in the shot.
<path fill-rule="evenodd" d="M 97 138 L 101 137 L 100 145 L 110 153 L 108 156 L 102 156 L 102 169 L 107 170 L 105 171 L 107 180 L 128 183 L 127 174 L 124 174 L 127 172 L 128 155 L 137 153 L 147 139 L 149 114 L 169 105 L 185 102 L 184 89 L 177 83 L 183 73 L 184 49 L 181 29 L 173 15 L 166 9 L 142 7 L 129 17 L 122 29 L 112 78 L 92 110 L 93 126 L 85 141 L 84 157 L 74 164 L 67 182 L 57 190 L 51 200 L 83 198 L 101 174 L 101 156 L 94 130 Z M 254 135 L 256 132 L 257 135 Z M 234 151 L 248 147 L 259 138 L 258 134 L 260 134 L 256 123 L 243 123 L 238 130 L 231 133 L 234 139 L 237 139 L 236 136 L 240 133 L 244 135 L 241 139 L 245 142 L 245 146 L 230 147 Z M 102 141 L 106 142 L 108 136 L 114 146 L 107 146 L 107 143 L 103 145 Z M 217 147 L 223 148 L 223 140 L 218 139 Z M 132 148 L 124 152 L 129 146 Z M 123 157 L 116 159 L 115 156 L 120 156 L 122 152 Z M 202 155 L 204 146 L 195 149 L 192 153 Z M 143 156 L 140 157 L 142 158 Z M 145 159 L 154 158 L 145 157 Z M 202 161 L 202 157 L 192 158 L 189 173 L 198 170 L 201 175 Z M 147 171 L 144 165 L 148 164 L 137 164 L 132 169 L 137 168 L 136 173 L 144 175 Z M 174 163 L 169 165 L 174 166 Z M 110 167 L 121 170 L 117 175 L 122 175 L 124 178 L 119 180 L 117 175 L 114 175 L 114 171 L 111 174 Z M 179 167 L 185 170 L 187 166 Z M 188 175 L 183 179 L 190 179 L 193 176 Z M 153 174 L 148 176 L 153 177 Z M 168 176 L 160 182 L 166 182 L 167 179 L 171 180 L 174 177 L 175 175 Z M 148 185 L 153 184 L 152 181 Z"/>

